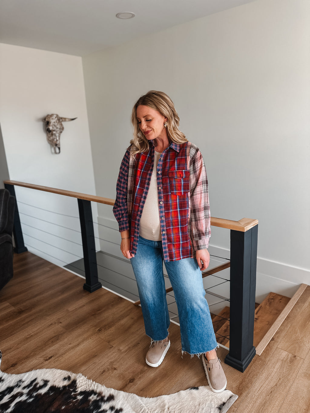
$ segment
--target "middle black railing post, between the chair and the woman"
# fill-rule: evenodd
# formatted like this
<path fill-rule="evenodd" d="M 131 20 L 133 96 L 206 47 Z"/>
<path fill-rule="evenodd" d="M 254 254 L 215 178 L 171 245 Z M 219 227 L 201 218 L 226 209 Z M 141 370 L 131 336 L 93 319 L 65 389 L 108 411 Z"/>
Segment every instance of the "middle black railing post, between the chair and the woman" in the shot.
<path fill-rule="evenodd" d="M 95 235 L 93 227 L 93 214 L 91 212 L 91 201 L 79 199 L 79 215 L 81 223 L 83 256 L 86 282 L 84 290 L 94 292 L 102 287 L 98 281 L 98 269 L 95 248 Z"/>

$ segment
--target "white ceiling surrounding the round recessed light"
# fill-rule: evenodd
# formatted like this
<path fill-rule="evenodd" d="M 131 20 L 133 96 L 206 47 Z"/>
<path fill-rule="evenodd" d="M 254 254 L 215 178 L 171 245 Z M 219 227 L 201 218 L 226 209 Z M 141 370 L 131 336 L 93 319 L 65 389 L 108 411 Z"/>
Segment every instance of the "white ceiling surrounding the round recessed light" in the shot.
<path fill-rule="evenodd" d="M 0 42 L 83 56 L 252 1 L 0 0 Z"/>

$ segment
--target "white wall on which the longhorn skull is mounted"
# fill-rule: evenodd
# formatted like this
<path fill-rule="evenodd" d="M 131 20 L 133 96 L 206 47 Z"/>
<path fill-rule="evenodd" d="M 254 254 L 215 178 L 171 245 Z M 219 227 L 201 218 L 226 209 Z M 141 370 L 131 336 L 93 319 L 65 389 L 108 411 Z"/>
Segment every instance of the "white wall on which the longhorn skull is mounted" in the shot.
<path fill-rule="evenodd" d="M 95 194 L 81 57 L 0 44 L 0 60 L 0 122 L 10 179 Z M 51 113 L 77 117 L 64 122 L 59 155 L 43 129 L 42 118 Z M 75 198 L 15 190 L 29 251 L 58 265 L 83 256 L 79 219 L 72 218 L 79 216 Z M 96 205 L 93 212 L 96 219 Z"/>

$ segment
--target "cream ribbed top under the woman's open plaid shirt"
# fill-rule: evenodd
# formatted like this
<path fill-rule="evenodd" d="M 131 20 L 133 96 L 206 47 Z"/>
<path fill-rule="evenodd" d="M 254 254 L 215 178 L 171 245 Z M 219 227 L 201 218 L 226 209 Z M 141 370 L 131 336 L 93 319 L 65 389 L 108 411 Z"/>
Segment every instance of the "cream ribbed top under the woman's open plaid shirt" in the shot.
<path fill-rule="evenodd" d="M 158 206 L 158 192 L 157 192 L 157 180 L 156 169 L 158 159 L 161 153 L 156 152 L 154 154 L 154 167 L 150 180 L 150 188 L 148 195 L 145 199 L 141 219 L 139 235 L 146 240 L 161 241 L 162 235 L 160 231 L 160 218 L 159 218 L 159 206 Z"/>

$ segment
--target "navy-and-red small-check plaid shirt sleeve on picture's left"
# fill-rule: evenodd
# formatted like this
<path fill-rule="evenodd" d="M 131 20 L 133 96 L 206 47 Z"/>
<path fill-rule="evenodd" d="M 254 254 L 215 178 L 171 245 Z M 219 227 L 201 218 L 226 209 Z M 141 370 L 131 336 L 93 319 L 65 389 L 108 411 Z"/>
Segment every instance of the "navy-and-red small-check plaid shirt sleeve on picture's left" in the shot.
<path fill-rule="evenodd" d="M 129 170 L 129 150 L 126 151 L 119 168 L 119 176 L 116 184 L 116 199 L 113 207 L 113 214 L 119 224 L 119 232 L 130 229 L 128 208 L 127 208 L 127 188 Z"/>

